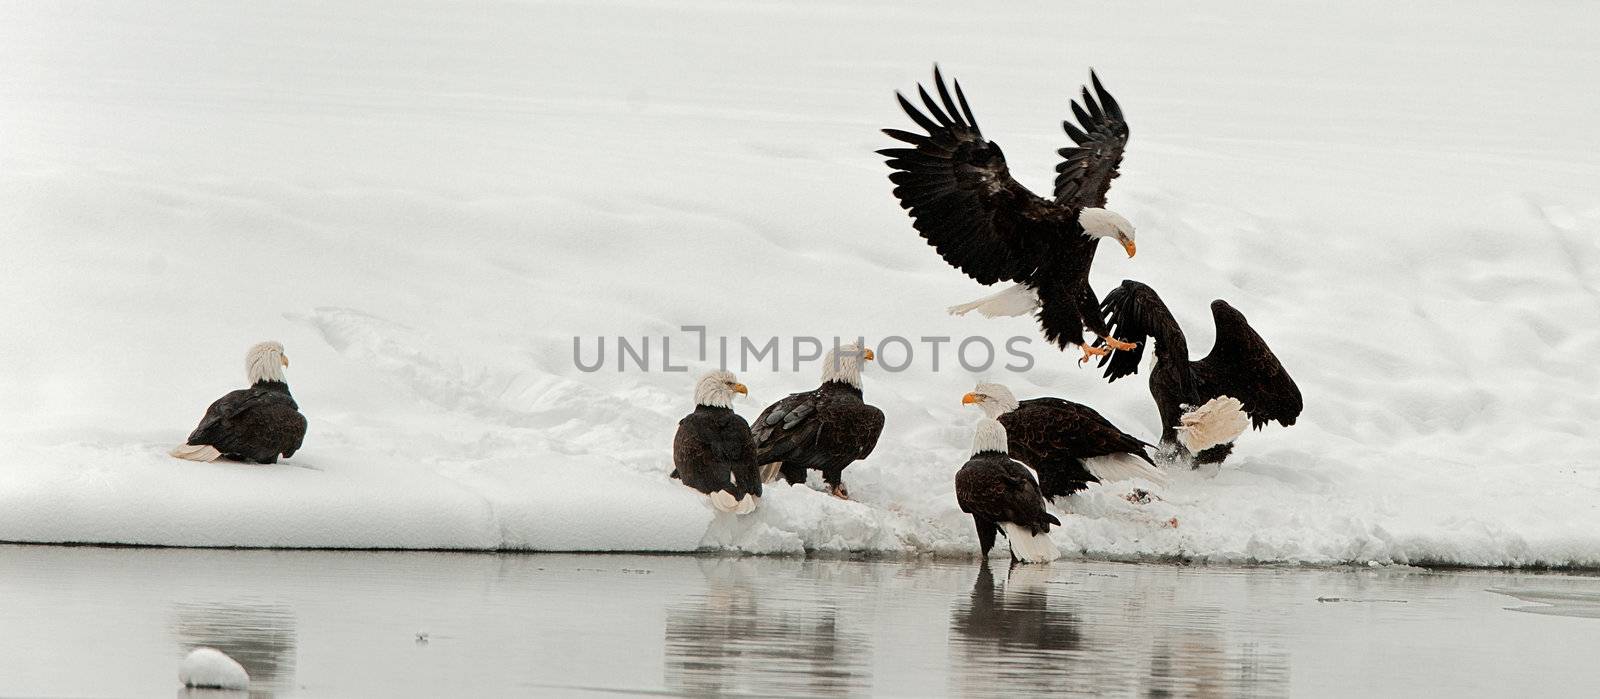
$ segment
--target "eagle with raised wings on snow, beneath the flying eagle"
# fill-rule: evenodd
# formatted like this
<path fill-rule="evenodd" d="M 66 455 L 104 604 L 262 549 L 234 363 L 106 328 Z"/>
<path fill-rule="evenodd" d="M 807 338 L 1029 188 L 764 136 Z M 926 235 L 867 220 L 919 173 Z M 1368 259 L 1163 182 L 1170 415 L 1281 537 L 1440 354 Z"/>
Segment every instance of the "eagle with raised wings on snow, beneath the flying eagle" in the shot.
<path fill-rule="evenodd" d="M 1117 347 L 1101 358 L 1107 381 L 1138 374 L 1146 338 L 1155 341 L 1150 397 L 1162 414 L 1163 449 L 1192 456 L 1195 464 L 1219 464 L 1234 451 L 1232 441 L 1245 424 L 1238 419 L 1237 430 L 1211 427 L 1208 413 L 1243 409 L 1258 430 L 1269 421 L 1288 427 L 1299 417 L 1304 403 L 1294 379 L 1245 322 L 1245 314 L 1227 301 L 1211 302 L 1216 341 L 1211 353 L 1198 361 L 1189 360 L 1189 341 L 1155 290 L 1125 280 L 1106 294 L 1101 307 L 1115 328 L 1115 338 L 1134 346 Z"/>

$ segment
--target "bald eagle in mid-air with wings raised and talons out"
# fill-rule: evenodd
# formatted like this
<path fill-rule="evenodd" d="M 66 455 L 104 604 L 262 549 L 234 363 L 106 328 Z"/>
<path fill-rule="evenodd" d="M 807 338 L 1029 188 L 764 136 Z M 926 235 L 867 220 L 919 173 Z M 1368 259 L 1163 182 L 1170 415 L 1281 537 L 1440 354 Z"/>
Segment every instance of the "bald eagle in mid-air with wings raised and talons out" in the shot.
<path fill-rule="evenodd" d="M 955 83 L 952 99 L 938 67 L 933 82 L 938 101 L 917 86 L 928 114 L 896 93 L 901 109 L 926 134 L 883 130 L 912 146 L 878 150 L 894 170 L 890 174 L 894 197 L 946 262 L 982 285 L 1016 282 L 950 312 L 995 317 L 1037 310 L 1045 339 L 1062 350 L 1078 346 L 1080 363 L 1106 353 L 1099 344 L 1083 342 L 1083 328 L 1110 347 L 1133 349 L 1110 338 L 1090 288 L 1090 266 L 1101 238 L 1117 240 L 1130 258 L 1136 250 L 1133 224 L 1104 208 L 1128 144 L 1122 106 L 1090 72 L 1094 93 L 1085 86 L 1082 104 L 1072 102 L 1078 123 L 1061 123 L 1075 146 L 1058 150 L 1062 162 L 1056 166 L 1056 190 L 1046 200 L 1011 179 L 1000 146 L 978 130 L 962 83 Z"/>

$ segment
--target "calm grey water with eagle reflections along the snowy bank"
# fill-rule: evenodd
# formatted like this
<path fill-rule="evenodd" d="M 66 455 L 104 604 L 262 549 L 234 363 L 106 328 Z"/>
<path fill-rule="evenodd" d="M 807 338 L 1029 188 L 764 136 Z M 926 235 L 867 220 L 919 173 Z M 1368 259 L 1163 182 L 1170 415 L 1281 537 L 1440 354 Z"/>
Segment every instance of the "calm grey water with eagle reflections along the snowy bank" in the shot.
<path fill-rule="evenodd" d="M 1597 616 L 1576 574 L 0 547 L 0 696 L 182 696 L 197 645 L 251 696 L 1573 694 Z"/>

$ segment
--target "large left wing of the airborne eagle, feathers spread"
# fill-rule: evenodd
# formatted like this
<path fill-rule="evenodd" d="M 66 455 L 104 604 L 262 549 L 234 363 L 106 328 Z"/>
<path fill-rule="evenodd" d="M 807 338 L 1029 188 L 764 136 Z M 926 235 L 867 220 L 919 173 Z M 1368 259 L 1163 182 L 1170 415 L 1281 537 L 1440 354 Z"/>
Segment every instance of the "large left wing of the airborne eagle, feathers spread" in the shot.
<path fill-rule="evenodd" d="M 883 149 L 894 197 L 946 262 L 984 285 L 1029 282 L 1062 226 L 1077 226 L 1077 210 L 1045 200 L 1011 178 L 1000 146 L 984 139 L 955 83 L 955 98 L 933 69 L 939 101 L 922 85 L 923 114 L 904 94 L 901 109 L 926 134 L 886 128 L 912 147 Z"/>

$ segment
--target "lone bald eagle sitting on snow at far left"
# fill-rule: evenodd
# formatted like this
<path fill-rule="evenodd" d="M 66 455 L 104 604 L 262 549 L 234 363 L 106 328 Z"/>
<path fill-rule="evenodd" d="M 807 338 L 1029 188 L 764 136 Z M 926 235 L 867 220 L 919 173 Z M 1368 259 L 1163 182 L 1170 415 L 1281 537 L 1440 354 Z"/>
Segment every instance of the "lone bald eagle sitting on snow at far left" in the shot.
<path fill-rule="evenodd" d="M 248 389 L 218 398 L 205 411 L 189 441 L 173 456 L 189 461 L 232 459 L 277 464 L 294 456 L 306 438 L 306 416 L 290 395 L 283 369 L 290 358 L 278 342 L 261 342 L 245 353 Z"/>

